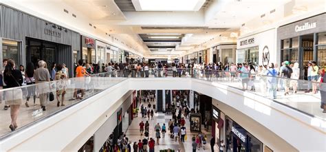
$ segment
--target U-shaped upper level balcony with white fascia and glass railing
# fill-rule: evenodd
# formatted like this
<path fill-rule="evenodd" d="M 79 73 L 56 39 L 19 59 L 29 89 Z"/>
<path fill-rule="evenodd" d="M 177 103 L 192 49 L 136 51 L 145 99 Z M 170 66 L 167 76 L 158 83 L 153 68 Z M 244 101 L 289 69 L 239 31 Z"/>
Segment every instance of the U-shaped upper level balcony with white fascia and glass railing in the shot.
<path fill-rule="evenodd" d="M 181 71 L 181 70 L 180 70 Z M 173 78 L 173 72 L 170 69 L 151 69 L 148 73 L 149 78 L 131 78 L 136 76 L 136 72 L 129 73 L 113 72 L 112 74 L 96 74 L 86 78 L 71 78 L 65 80 L 66 99 L 72 98 L 74 89 L 86 89 L 83 100 L 65 100 L 65 106 L 56 106 L 56 100 L 48 102 L 46 111 L 40 110 L 39 98 L 36 98 L 35 104 L 30 99 L 30 107 L 21 105 L 18 116 L 19 129 L 9 132 L 10 111 L 0 111 L 1 125 L 0 133 L 0 151 L 23 150 L 27 147 L 42 150 L 65 149 L 65 146 L 79 137 L 81 133 L 89 129 L 95 122 L 94 130 L 100 126 L 101 121 L 96 121 L 103 114 L 111 116 L 115 111 L 118 99 L 129 90 L 134 89 L 191 89 L 201 94 L 211 96 L 216 100 L 224 102 L 226 105 L 241 111 L 265 128 L 272 131 L 285 142 L 294 146 L 298 151 L 325 151 L 326 143 L 326 122 L 325 113 L 320 109 L 320 95 L 304 93 L 309 82 L 304 80 L 290 80 L 287 78 L 275 78 L 268 76 L 256 76 L 248 78 L 246 74 L 230 74 L 228 72 L 202 72 L 199 70 L 183 69 L 177 77 Z M 147 75 L 147 72 L 144 72 Z M 113 77 L 116 76 L 116 77 Z M 118 76 L 128 76 L 127 78 L 118 78 Z M 279 91 L 276 91 L 276 99 L 271 99 L 267 90 L 270 83 L 276 82 Z M 250 82 L 250 83 L 249 83 Z M 46 94 L 61 89 L 60 81 L 29 85 L 20 88 L 11 88 L 1 90 L 3 100 L 15 100 L 25 98 L 28 92 Z M 243 88 L 243 83 L 249 83 L 249 87 Z M 281 91 L 282 84 L 297 85 L 296 94 L 284 95 Z M 249 91 L 251 86 L 254 90 Z M 311 85 L 314 85 L 312 83 Z M 316 84 L 318 85 L 318 84 Z M 324 84 L 319 84 L 319 89 L 323 91 Z M 285 86 L 286 87 L 286 86 Z M 33 90 L 36 91 L 33 91 Z M 20 91 L 23 95 L 20 95 Z M 10 96 L 9 96 L 10 95 Z M 108 98 L 109 97 L 109 98 Z M 273 97 L 274 98 L 274 97 Z M 4 106 L 4 102 L 1 102 Z M 110 111 L 108 113 L 108 111 Z M 91 113 L 91 115 L 89 115 Z M 81 120 L 80 120 L 81 119 Z M 103 118 L 105 119 L 105 118 Z M 6 123 L 8 122 L 8 123 Z M 72 127 L 78 124 L 78 127 Z M 68 131 L 64 131 L 65 128 Z M 74 133 L 72 130 L 74 129 Z M 60 131 L 60 135 L 56 132 Z M 91 132 L 91 131 L 90 131 Z M 298 138 L 301 133 L 302 138 Z M 61 141 L 44 142 L 43 140 L 63 138 Z M 43 142 L 41 142 L 43 141 Z M 85 142 L 85 141 L 84 141 Z M 83 140 L 80 141 L 83 143 Z M 58 146 L 58 144 L 61 144 Z M 78 145 L 78 144 L 76 144 Z M 79 146 L 80 147 L 80 146 Z"/>

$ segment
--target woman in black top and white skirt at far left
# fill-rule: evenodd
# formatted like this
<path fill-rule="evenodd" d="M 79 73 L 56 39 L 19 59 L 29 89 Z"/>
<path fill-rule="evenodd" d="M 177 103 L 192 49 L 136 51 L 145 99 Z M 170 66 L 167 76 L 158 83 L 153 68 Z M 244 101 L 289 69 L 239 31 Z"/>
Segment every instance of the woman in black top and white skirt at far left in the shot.
<path fill-rule="evenodd" d="M 6 83 L 7 88 L 11 87 L 20 87 L 23 83 L 23 76 L 19 69 L 14 69 L 14 61 L 8 60 L 8 63 L 3 72 L 3 81 Z M 14 131 L 17 129 L 17 118 L 19 113 L 19 108 L 21 103 L 23 102 L 23 91 L 19 89 L 12 89 L 10 91 L 6 91 L 6 105 L 10 105 L 10 130 Z"/>

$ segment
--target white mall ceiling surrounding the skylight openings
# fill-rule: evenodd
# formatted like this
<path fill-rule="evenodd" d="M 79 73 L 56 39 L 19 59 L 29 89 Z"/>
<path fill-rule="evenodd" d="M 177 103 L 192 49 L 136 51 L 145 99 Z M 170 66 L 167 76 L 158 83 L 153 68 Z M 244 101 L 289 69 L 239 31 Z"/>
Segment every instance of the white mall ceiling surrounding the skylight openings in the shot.
<path fill-rule="evenodd" d="M 203 0 L 198 1 L 201 3 L 203 2 Z M 73 10 L 80 12 L 78 16 L 83 16 L 77 18 L 83 19 L 83 21 L 74 21 L 76 23 L 76 27 L 78 27 L 78 24 L 80 23 L 87 23 L 86 26 L 91 23 L 92 25 L 96 26 L 96 30 L 100 30 L 100 32 L 107 33 L 111 36 L 119 37 L 120 39 L 123 39 L 124 43 L 128 43 L 129 47 L 131 48 L 135 47 L 137 50 L 146 50 L 144 51 L 144 56 L 151 56 L 153 52 L 149 50 L 147 45 L 153 45 L 153 43 L 160 43 L 160 45 L 171 45 L 171 42 L 144 43 L 139 34 L 184 34 L 185 36 L 182 39 L 181 44 L 176 46 L 173 54 L 191 52 L 193 50 L 197 50 L 199 46 L 209 46 L 211 43 L 226 41 L 235 42 L 235 37 L 230 38 L 231 32 L 240 34 L 239 30 L 243 23 L 246 23 L 247 25 L 250 24 L 250 21 L 252 21 L 251 24 L 254 25 L 260 21 L 255 19 L 260 18 L 261 14 L 270 12 L 270 10 L 275 8 L 279 8 L 289 1 L 296 1 L 296 11 L 303 11 L 306 9 L 306 6 L 309 6 L 307 9 L 313 9 L 320 3 L 323 3 L 325 6 L 325 0 L 210 0 L 205 8 L 198 11 L 122 12 L 113 0 L 47 0 L 47 3 L 44 4 L 40 4 L 39 0 L 17 0 L 17 3 L 20 3 L 21 5 L 24 5 L 24 3 L 28 4 L 25 5 L 26 7 L 32 6 L 33 4 L 38 7 L 43 5 L 44 8 L 49 7 L 50 3 L 56 3 L 56 5 L 53 7 L 58 7 L 61 5 L 62 8 L 74 8 Z M 314 5 L 312 5 L 312 3 Z M 47 14 L 56 14 L 56 11 L 63 10 L 61 7 L 56 10 L 45 10 L 44 8 L 37 9 L 38 7 L 31 8 L 33 8 L 34 11 L 44 13 L 48 11 L 46 12 Z M 52 10 L 55 11 L 51 12 Z M 276 9 L 276 11 L 278 10 Z M 280 14 L 278 17 L 281 16 L 282 14 Z M 274 21 L 276 21 L 276 18 L 266 17 L 266 21 L 263 25 L 270 24 Z M 143 27 L 147 27 L 147 29 L 144 29 Z M 151 27 L 166 27 L 171 29 L 148 29 Z M 178 27 L 188 28 L 175 29 Z M 189 29 L 191 27 L 198 28 Z M 83 30 L 88 28 L 80 29 Z M 177 43 L 173 43 L 173 45 L 175 44 Z M 167 53 L 166 55 L 171 54 L 171 52 L 165 53 Z M 157 54 L 157 52 L 155 52 L 155 54 Z M 162 52 L 160 55 L 162 55 Z"/>

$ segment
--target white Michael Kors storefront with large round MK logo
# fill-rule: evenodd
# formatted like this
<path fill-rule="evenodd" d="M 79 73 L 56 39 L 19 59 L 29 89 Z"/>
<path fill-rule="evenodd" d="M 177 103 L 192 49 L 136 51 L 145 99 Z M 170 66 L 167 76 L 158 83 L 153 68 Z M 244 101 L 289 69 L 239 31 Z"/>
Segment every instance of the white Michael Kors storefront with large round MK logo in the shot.
<path fill-rule="evenodd" d="M 276 63 L 276 30 L 272 28 L 237 39 L 237 63 Z"/>

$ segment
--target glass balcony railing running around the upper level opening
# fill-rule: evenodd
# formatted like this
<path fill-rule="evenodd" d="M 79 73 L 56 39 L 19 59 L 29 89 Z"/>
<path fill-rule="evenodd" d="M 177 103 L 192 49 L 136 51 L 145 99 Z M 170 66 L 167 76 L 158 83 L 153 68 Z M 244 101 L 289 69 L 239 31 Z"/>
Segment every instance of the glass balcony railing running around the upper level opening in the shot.
<path fill-rule="evenodd" d="M 136 70 L 120 70 L 94 74 L 83 78 L 69 78 L 69 80 L 56 80 L 23 87 L 1 89 L 0 118 L 2 123 L 0 124 L 0 136 L 3 138 L 15 132 L 9 128 L 12 120 L 17 122 L 15 124 L 17 125 L 16 130 L 19 130 L 21 127 L 32 124 L 32 122 L 67 109 L 83 101 L 82 99 L 94 96 L 100 91 L 121 83 L 127 78 L 173 77 L 196 78 L 227 85 L 243 90 L 243 96 L 246 96 L 246 92 L 257 94 L 259 95 L 258 97 L 252 96 L 252 98 L 255 98 L 255 100 L 270 98 L 274 102 L 291 107 L 309 116 L 326 120 L 326 114 L 320 109 L 320 93 L 324 94 L 326 92 L 325 83 L 271 77 L 265 76 L 264 74 L 244 74 L 202 69 L 149 69 L 139 72 Z M 305 91 L 308 88 L 314 88 L 316 91 L 306 93 Z M 53 98 L 50 94 L 53 94 Z M 63 94 L 64 98 L 62 97 Z M 76 98 L 72 98 L 74 94 L 76 94 Z M 50 101 L 50 99 L 53 100 Z M 26 104 L 27 100 L 28 102 Z M 11 106 L 8 110 L 3 110 L 5 105 L 12 105 L 12 102 L 20 106 Z M 246 102 L 245 104 L 253 109 L 261 110 L 262 113 L 268 112 L 268 110 L 266 111 L 263 108 L 258 109 L 257 105 L 252 105 L 250 102 Z M 42 106 L 45 106 L 45 109 Z M 14 111 L 18 107 L 18 115 L 15 115 Z"/>

